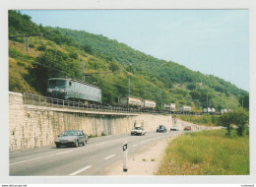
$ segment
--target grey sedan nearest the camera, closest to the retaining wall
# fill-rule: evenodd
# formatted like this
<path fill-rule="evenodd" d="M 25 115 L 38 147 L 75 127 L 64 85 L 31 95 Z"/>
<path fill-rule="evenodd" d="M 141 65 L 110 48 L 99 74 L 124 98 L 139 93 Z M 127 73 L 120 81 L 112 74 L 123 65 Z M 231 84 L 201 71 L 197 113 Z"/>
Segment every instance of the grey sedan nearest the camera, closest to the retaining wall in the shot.
<path fill-rule="evenodd" d="M 85 146 L 88 140 L 88 135 L 81 130 L 63 131 L 55 139 L 55 145 L 56 148 L 60 148 L 61 146 L 73 146 L 77 148 L 80 144 Z"/>

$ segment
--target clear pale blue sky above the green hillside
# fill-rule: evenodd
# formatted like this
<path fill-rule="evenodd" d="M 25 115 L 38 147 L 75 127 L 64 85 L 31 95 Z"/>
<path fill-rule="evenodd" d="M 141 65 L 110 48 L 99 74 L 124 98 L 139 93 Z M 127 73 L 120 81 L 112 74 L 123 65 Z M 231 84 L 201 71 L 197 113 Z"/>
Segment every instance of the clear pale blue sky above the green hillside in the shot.
<path fill-rule="evenodd" d="M 32 22 L 102 34 L 249 91 L 248 10 L 24 10 Z"/>

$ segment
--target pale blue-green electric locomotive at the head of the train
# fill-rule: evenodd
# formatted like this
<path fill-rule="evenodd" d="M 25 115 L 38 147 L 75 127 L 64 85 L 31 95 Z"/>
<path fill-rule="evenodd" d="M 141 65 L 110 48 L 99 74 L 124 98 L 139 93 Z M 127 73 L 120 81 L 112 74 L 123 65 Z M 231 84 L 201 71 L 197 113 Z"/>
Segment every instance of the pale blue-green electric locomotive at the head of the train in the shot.
<path fill-rule="evenodd" d="M 47 94 L 61 99 L 101 103 L 101 90 L 84 81 L 69 78 L 51 78 L 47 83 Z"/>

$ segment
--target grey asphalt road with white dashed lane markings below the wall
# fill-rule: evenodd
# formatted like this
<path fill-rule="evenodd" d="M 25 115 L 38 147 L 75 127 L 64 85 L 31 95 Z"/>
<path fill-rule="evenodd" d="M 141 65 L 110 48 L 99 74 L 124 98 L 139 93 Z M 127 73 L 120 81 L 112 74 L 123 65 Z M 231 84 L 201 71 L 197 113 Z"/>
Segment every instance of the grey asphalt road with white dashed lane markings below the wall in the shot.
<path fill-rule="evenodd" d="M 55 146 L 10 153 L 10 176 L 104 175 L 104 170 L 123 158 L 140 152 L 166 137 L 182 132 L 147 133 L 146 136 L 114 135 L 92 138 L 86 146 L 56 149 Z"/>

